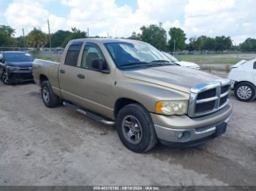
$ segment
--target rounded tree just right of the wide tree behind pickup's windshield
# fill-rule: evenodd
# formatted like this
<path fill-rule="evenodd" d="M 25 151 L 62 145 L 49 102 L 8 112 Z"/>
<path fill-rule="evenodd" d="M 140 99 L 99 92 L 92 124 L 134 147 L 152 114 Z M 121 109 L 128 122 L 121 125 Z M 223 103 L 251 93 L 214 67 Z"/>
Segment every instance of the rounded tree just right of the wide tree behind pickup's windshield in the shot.
<path fill-rule="evenodd" d="M 174 48 L 174 42 L 175 42 L 175 48 L 176 50 L 184 50 L 186 47 L 185 41 L 187 40 L 186 34 L 181 28 L 170 28 L 169 30 L 170 40 L 168 42 L 168 47 L 171 51 L 173 51 Z"/>

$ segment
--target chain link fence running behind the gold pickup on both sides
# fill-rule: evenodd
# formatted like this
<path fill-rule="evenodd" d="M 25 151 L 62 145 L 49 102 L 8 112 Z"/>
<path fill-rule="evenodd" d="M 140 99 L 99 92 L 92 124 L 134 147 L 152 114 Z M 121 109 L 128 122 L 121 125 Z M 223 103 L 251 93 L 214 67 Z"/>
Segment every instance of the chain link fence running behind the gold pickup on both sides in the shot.
<path fill-rule="evenodd" d="M 1 51 L 29 52 L 34 58 L 59 62 L 64 51 L 62 47 L 35 48 L 35 47 L 0 47 Z M 230 66 L 241 60 L 256 58 L 256 52 L 199 52 L 181 51 L 170 52 L 179 61 L 197 63 L 202 69 L 229 71 Z"/>

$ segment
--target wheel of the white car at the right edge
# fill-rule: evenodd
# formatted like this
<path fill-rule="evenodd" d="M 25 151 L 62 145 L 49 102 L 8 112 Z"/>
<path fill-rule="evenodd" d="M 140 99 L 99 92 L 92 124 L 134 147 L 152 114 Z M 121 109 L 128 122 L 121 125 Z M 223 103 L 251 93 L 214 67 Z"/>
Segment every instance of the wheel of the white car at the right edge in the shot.
<path fill-rule="evenodd" d="M 249 82 L 241 82 L 235 87 L 235 95 L 239 101 L 252 101 L 256 97 L 256 88 Z"/>

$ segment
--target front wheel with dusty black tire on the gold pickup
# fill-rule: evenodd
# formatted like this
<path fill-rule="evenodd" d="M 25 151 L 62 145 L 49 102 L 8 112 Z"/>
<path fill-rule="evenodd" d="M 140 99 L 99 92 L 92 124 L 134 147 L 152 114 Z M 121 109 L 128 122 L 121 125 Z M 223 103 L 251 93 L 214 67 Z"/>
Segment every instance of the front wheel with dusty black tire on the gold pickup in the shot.
<path fill-rule="evenodd" d="M 151 117 L 139 104 L 124 106 L 118 112 L 116 126 L 119 139 L 133 152 L 147 152 L 157 144 Z"/>

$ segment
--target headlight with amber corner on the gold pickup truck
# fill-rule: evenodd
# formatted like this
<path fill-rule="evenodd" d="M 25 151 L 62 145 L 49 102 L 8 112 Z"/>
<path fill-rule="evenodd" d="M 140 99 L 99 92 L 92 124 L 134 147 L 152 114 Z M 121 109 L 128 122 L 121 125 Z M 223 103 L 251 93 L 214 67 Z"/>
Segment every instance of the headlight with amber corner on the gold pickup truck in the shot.
<path fill-rule="evenodd" d="M 165 115 L 187 114 L 188 101 L 159 101 L 156 104 L 156 113 Z"/>

